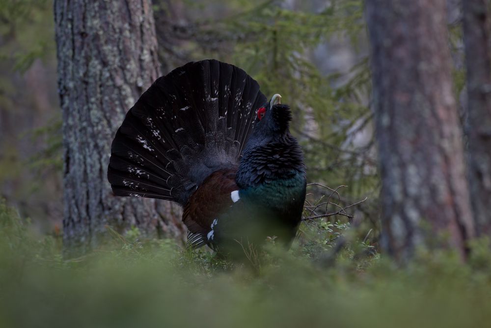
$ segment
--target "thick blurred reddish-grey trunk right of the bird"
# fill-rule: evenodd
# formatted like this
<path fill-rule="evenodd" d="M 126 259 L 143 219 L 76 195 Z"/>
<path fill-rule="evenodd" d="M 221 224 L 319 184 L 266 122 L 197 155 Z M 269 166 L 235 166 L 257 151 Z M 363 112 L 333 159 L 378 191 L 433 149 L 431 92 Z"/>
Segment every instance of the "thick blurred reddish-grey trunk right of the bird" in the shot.
<path fill-rule="evenodd" d="M 367 0 L 366 18 L 382 175 L 382 246 L 403 261 L 418 246 L 442 243 L 464 257 L 474 228 L 445 0 Z"/>

